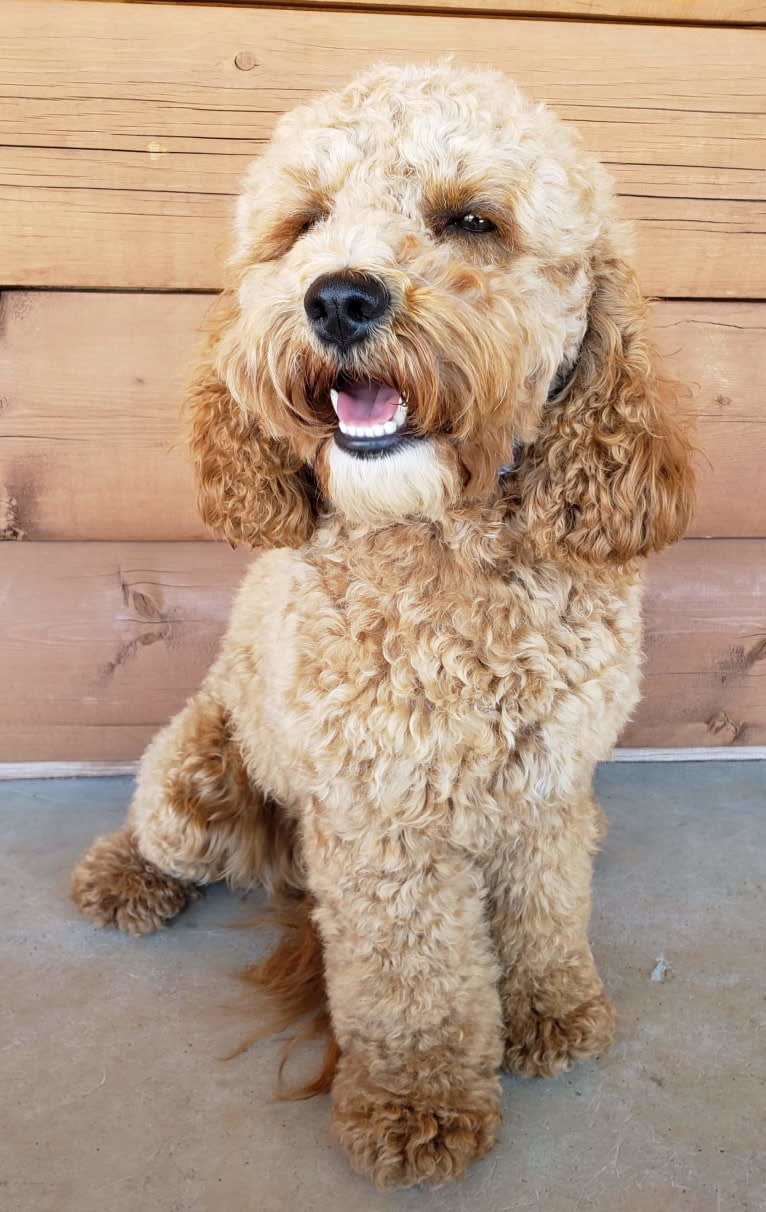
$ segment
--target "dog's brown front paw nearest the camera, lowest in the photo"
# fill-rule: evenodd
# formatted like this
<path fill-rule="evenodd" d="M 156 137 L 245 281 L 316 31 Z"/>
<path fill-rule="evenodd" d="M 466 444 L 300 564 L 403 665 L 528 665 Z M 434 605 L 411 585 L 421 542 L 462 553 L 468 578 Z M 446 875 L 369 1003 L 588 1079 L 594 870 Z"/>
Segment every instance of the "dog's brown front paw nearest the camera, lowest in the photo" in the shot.
<path fill-rule="evenodd" d="M 354 1170 L 379 1187 L 440 1187 L 487 1154 L 501 1121 L 496 1086 L 486 1099 L 429 1105 L 381 1092 L 336 1096 L 333 1130 Z"/>

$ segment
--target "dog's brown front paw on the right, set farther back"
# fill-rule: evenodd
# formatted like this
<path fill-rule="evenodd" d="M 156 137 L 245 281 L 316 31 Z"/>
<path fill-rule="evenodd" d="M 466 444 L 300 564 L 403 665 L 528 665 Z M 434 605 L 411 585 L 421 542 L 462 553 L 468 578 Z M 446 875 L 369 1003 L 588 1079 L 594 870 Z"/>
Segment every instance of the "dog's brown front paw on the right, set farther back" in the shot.
<path fill-rule="evenodd" d="M 616 1018 L 602 993 L 558 1014 L 518 1006 L 507 1016 L 503 1068 L 525 1077 L 555 1077 L 578 1060 L 606 1052 Z"/>

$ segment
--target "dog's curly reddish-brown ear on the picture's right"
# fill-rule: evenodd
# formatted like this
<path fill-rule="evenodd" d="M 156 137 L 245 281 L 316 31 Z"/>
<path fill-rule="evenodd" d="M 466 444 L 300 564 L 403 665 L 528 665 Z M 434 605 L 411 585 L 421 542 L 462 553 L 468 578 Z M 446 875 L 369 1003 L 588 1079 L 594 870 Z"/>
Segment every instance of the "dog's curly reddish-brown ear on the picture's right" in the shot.
<path fill-rule="evenodd" d="M 624 562 L 680 538 L 693 508 L 691 444 L 661 383 L 633 270 L 594 264 L 574 378 L 521 469 L 519 520 L 544 554 Z"/>

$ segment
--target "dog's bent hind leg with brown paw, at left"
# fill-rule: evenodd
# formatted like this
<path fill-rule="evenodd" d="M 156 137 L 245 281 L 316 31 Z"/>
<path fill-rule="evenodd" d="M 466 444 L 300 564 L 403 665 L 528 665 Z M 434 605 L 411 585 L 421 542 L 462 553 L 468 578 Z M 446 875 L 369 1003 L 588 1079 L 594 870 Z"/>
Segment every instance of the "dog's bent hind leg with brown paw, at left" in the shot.
<path fill-rule="evenodd" d="M 74 899 L 98 926 L 148 934 L 200 885 L 296 884 L 293 834 L 248 778 L 225 710 L 202 690 L 147 749 L 127 821 L 85 852 Z"/>

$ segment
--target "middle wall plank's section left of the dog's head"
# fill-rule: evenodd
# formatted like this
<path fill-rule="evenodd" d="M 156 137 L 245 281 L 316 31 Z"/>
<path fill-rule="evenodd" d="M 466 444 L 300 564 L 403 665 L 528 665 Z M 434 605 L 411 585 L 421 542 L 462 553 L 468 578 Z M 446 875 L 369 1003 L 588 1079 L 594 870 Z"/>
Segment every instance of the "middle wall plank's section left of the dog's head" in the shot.
<path fill-rule="evenodd" d="M 178 406 L 208 304 L 199 295 L 4 296 L 6 530 L 27 539 L 205 537 Z"/>

